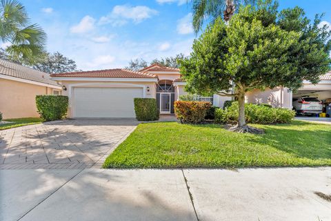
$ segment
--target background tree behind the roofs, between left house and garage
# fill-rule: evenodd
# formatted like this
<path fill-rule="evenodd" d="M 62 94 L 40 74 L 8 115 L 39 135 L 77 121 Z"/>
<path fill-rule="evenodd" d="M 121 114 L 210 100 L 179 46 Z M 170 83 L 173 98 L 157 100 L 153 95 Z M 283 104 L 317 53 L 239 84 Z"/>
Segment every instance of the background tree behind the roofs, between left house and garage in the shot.
<path fill-rule="evenodd" d="M 46 53 L 32 68 L 45 73 L 56 74 L 75 71 L 77 65 L 74 60 L 64 57 L 60 52 L 54 52 L 54 54 Z"/>

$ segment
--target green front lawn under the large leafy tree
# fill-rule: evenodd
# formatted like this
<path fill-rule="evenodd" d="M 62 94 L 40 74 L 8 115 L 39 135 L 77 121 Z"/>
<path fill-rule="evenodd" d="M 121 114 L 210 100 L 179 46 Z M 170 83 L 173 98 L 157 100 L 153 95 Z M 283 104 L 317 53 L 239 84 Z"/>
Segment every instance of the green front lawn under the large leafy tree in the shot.
<path fill-rule="evenodd" d="M 103 167 L 331 166 L 330 125 L 294 121 L 253 126 L 265 134 L 233 133 L 216 124 L 139 124 Z"/>

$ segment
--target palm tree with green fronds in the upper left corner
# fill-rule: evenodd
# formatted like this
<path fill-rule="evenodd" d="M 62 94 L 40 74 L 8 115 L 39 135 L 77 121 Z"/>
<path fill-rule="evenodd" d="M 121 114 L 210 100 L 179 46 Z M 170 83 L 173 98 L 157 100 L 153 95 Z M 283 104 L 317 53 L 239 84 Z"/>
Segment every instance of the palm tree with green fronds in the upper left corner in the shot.
<path fill-rule="evenodd" d="M 43 55 L 46 33 L 37 24 L 30 24 L 24 6 L 16 0 L 1 0 L 0 39 L 9 43 L 6 52 L 12 59 L 34 64 Z"/>

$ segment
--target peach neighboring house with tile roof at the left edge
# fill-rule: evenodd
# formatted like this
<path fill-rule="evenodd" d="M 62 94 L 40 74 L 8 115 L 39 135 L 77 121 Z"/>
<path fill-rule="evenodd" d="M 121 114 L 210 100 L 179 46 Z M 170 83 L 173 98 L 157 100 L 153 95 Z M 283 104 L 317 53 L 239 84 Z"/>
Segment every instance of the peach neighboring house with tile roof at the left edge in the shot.
<path fill-rule="evenodd" d="M 39 117 L 36 95 L 59 95 L 61 89 L 47 73 L 0 59 L 0 112 L 3 119 Z"/>

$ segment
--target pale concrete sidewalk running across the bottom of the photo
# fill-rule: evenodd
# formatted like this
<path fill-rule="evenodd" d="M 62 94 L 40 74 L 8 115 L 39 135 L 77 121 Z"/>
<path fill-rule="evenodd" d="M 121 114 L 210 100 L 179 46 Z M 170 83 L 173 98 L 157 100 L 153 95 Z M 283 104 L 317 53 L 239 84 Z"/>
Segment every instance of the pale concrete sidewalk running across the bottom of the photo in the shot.
<path fill-rule="evenodd" d="M 331 220 L 315 192 L 330 167 L 2 170 L 0 220 Z"/>

